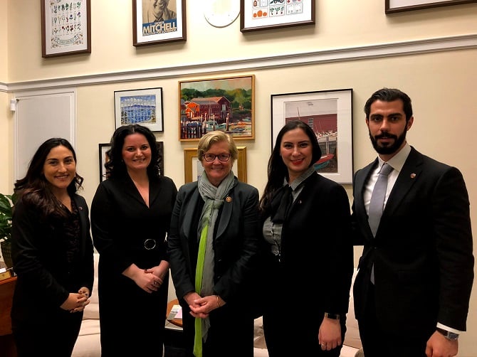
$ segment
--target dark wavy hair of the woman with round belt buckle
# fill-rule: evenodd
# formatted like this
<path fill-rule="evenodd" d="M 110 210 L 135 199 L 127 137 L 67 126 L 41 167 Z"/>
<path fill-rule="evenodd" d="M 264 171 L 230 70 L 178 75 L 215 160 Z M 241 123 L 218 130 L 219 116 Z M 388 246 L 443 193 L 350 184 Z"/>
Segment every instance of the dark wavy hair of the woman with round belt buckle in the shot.
<path fill-rule="evenodd" d="M 147 176 L 150 179 L 161 176 L 160 171 L 160 154 L 159 146 L 156 143 L 156 137 L 154 133 L 147 127 L 139 124 L 129 124 L 118 127 L 111 137 L 111 149 L 108 151 L 109 161 L 105 164 L 108 178 L 113 177 L 126 177 L 127 169 L 126 164 L 122 160 L 122 146 L 124 146 L 125 139 L 131 134 L 142 134 L 146 137 L 147 142 L 151 148 L 151 163 L 147 166 Z"/>

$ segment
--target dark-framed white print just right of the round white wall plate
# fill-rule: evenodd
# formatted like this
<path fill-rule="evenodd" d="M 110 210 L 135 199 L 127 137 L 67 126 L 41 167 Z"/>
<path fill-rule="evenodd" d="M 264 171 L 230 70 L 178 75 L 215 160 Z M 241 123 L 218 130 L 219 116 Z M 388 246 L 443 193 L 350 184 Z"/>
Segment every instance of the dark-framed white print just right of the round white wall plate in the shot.
<path fill-rule="evenodd" d="M 240 0 L 240 31 L 315 24 L 315 0 Z"/>

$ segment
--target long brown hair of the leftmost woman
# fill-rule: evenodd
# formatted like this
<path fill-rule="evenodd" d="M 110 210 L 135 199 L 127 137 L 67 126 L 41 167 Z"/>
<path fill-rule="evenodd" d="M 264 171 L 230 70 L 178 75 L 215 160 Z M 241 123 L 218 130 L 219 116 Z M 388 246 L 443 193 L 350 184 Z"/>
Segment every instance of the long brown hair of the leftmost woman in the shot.
<path fill-rule="evenodd" d="M 64 210 L 61 209 L 61 203 L 56 199 L 51 191 L 51 184 L 46 180 L 43 174 L 43 166 L 45 165 L 46 157 L 50 154 L 51 149 L 56 146 L 65 146 L 73 154 L 73 159 L 76 161 L 76 153 L 73 146 L 68 140 L 63 138 L 51 138 L 43 142 L 28 165 L 25 177 L 15 182 L 14 193 L 19 199 L 22 199 L 26 205 L 33 205 L 41 208 L 43 215 L 63 215 Z M 83 177 L 75 173 L 75 178 L 68 185 L 67 191 L 70 196 L 73 196 L 83 183 Z"/>

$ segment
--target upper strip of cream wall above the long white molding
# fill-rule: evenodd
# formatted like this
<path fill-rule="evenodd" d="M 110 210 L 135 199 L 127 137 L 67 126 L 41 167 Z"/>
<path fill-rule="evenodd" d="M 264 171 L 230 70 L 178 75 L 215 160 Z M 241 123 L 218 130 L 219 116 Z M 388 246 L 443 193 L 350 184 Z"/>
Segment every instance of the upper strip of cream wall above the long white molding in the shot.
<path fill-rule="evenodd" d="M 92 53 L 75 56 L 74 60 L 68 56 L 43 59 L 40 1 L 4 1 L 9 1 L 10 82 L 477 32 L 477 4 L 386 16 L 384 0 L 316 1 L 316 26 L 242 34 L 239 18 L 231 26 L 215 28 L 206 22 L 201 1 L 186 1 L 187 41 L 135 48 L 131 1 L 102 0 L 91 1 Z"/>

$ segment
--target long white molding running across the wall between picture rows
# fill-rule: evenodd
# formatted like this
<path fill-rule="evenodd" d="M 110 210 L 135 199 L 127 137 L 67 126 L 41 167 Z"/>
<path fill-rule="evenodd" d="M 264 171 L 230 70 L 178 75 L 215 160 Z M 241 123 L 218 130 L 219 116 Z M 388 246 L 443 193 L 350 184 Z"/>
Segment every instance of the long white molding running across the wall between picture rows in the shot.
<path fill-rule="evenodd" d="M 256 58 L 236 58 L 231 60 L 189 63 L 164 68 L 147 70 L 130 70 L 100 75 L 81 75 L 48 80 L 31 80 L 25 82 L 2 83 L 7 92 L 21 90 L 45 90 L 60 87 L 78 87 L 83 85 L 101 85 L 113 82 L 131 82 L 135 80 L 152 80 L 160 78 L 179 78 L 187 75 L 209 75 L 243 70 L 261 70 L 268 68 L 286 68 L 297 65 L 310 65 L 330 62 L 345 62 L 382 57 L 436 53 L 449 50 L 477 48 L 477 33 L 442 38 L 428 38 L 416 41 L 382 43 L 369 46 L 336 48 L 307 53 L 271 55 Z M 4 89 L 4 88 L 3 88 Z"/>

